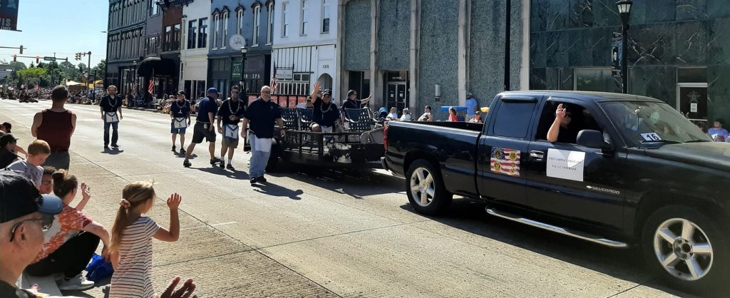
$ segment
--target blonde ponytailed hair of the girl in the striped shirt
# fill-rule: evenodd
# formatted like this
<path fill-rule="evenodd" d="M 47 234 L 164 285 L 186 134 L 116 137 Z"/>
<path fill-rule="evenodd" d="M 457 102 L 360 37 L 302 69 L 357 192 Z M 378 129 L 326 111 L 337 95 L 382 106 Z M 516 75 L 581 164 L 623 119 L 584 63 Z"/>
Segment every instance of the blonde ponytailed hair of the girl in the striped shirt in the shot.
<path fill-rule="evenodd" d="M 127 184 L 122 190 L 122 199 L 119 202 L 119 210 L 117 218 L 112 226 L 112 244 L 110 251 L 119 251 L 119 245 L 122 243 L 122 232 L 130 224 L 134 224 L 132 220 L 137 221 L 142 211 L 139 207 L 145 205 L 147 200 L 155 198 L 155 183 L 153 181 L 137 181 Z"/>

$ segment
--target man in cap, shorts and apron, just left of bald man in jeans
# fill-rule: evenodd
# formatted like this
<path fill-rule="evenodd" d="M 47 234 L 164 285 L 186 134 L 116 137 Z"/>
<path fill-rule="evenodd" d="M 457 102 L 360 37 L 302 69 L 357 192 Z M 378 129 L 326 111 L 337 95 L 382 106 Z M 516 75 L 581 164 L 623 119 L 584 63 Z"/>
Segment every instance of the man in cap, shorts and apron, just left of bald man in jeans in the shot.
<path fill-rule="evenodd" d="M 243 118 L 246 111 L 243 102 L 238 99 L 238 95 L 238 86 L 233 86 L 231 88 L 231 98 L 220 104 L 220 109 L 218 109 L 218 133 L 223 136 L 223 140 L 220 141 L 220 167 L 223 168 L 222 159 L 228 151 L 228 166 L 226 166 L 226 169 L 231 171 L 236 170 L 231 162 L 233 161 L 233 153 L 238 148 L 238 123 L 241 122 L 241 118 Z M 221 122 L 223 122 L 223 126 L 220 125 Z"/>

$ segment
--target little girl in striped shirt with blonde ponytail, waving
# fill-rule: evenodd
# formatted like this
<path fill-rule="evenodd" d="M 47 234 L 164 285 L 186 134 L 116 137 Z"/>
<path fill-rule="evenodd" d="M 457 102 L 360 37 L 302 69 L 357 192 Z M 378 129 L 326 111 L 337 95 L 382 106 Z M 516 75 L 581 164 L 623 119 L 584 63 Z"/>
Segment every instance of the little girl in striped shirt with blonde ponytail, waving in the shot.
<path fill-rule="evenodd" d="M 135 182 L 124 187 L 117 218 L 112 226 L 112 286 L 110 297 L 153 297 L 152 238 L 175 242 L 180 237 L 177 207 L 183 198 L 172 194 L 167 199 L 170 208 L 170 228 L 159 226 L 152 218 L 142 216 L 155 203 L 151 182 Z"/>

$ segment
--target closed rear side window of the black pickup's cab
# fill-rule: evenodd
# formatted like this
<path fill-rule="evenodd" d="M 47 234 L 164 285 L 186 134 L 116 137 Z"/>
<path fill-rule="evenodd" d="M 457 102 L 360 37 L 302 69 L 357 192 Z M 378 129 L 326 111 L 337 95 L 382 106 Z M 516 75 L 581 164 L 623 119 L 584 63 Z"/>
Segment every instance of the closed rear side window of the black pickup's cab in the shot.
<path fill-rule="evenodd" d="M 527 137 L 535 105 L 535 102 L 502 102 L 496 112 L 494 134 L 516 139 Z"/>

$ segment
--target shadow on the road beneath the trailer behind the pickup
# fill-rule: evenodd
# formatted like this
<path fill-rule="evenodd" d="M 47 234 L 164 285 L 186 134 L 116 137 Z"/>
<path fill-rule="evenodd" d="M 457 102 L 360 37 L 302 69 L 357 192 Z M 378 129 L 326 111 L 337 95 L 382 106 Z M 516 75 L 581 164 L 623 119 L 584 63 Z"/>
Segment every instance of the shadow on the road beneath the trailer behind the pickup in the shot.
<path fill-rule="evenodd" d="M 282 167 L 279 167 L 282 169 Z M 372 169 L 321 169 L 316 167 L 291 166 L 285 171 L 267 172 L 274 177 L 289 177 L 328 191 L 334 191 L 355 199 L 378 194 L 392 194 L 402 191 L 403 180 L 398 177 L 373 172 Z"/>

